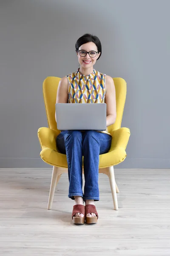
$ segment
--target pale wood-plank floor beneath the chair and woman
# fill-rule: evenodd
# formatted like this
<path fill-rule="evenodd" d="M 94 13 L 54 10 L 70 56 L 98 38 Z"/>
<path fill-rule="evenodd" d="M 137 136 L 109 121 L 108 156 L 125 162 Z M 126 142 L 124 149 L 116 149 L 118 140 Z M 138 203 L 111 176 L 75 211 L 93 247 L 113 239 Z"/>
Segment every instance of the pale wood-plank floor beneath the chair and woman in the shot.
<path fill-rule="evenodd" d="M 108 177 L 99 175 L 98 224 L 76 226 L 68 177 L 47 210 L 52 169 L 0 169 L 0 255 L 170 256 L 170 169 L 115 169 L 113 210 Z"/>

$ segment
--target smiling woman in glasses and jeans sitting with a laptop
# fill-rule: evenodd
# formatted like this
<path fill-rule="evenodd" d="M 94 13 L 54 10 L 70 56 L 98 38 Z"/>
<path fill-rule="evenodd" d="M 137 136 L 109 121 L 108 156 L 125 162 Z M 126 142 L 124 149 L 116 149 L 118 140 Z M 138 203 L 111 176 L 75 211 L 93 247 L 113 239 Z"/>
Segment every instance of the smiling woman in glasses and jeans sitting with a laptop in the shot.
<path fill-rule="evenodd" d="M 116 120 L 116 94 L 113 79 L 99 73 L 94 64 L 102 54 L 102 46 L 94 35 L 85 34 L 77 40 L 76 53 L 80 67 L 77 72 L 59 81 L 56 103 L 106 103 L 107 127 Z M 62 131 L 57 147 L 67 155 L 69 194 L 73 199 L 74 224 L 96 223 L 98 213 L 94 201 L 99 201 L 99 154 L 111 147 L 108 131 Z M 84 156 L 85 187 L 82 192 L 82 156 Z M 84 206 L 85 202 L 85 206 Z"/>

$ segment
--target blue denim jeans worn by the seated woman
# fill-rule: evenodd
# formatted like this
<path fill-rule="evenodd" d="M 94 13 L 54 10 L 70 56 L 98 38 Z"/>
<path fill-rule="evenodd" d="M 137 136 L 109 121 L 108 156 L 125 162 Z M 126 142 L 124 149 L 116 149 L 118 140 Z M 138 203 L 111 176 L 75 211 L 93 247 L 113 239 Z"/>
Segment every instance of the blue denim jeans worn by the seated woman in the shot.
<path fill-rule="evenodd" d="M 57 147 L 66 154 L 68 163 L 68 197 L 82 196 L 84 200 L 99 201 L 99 154 L 111 148 L 112 137 L 97 131 L 61 131 Z M 85 187 L 82 192 L 82 156 L 84 156 Z"/>

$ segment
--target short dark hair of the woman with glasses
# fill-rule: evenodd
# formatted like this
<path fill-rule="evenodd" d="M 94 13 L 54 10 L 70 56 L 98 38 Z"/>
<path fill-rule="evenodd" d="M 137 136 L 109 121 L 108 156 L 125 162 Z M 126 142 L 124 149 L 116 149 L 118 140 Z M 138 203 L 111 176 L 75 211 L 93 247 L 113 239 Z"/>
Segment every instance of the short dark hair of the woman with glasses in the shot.
<path fill-rule="evenodd" d="M 91 35 L 91 34 L 84 34 L 82 35 L 76 42 L 76 52 L 78 52 L 79 50 L 79 47 L 82 45 L 82 44 L 86 44 L 88 42 L 93 42 L 94 44 L 96 44 L 96 47 L 97 47 L 97 50 L 98 52 L 100 52 L 100 55 L 99 55 L 99 58 L 100 56 L 102 55 L 102 45 L 101 45 L 101 42 L 99 40 L 99 38 L 96 36 L 96 35 Z M 99 59 L 97 58 L 97 60 Z"/>

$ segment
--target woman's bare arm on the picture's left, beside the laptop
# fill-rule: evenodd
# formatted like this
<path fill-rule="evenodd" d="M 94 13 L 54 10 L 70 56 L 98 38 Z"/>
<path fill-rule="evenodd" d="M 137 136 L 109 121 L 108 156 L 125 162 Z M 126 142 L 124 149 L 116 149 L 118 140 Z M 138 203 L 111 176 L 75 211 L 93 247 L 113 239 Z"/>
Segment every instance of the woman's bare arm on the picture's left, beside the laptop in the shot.
<path fill-rule="evenodd" d="M 59 81 L 56 103 L 67 103 L 67 102 L 68 102 L 68 79 L 65 76 Z M 55 119 L 57 122 L 56 112 L 55 112 Z"/>

